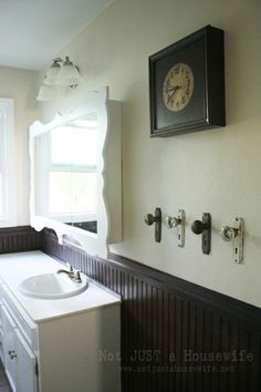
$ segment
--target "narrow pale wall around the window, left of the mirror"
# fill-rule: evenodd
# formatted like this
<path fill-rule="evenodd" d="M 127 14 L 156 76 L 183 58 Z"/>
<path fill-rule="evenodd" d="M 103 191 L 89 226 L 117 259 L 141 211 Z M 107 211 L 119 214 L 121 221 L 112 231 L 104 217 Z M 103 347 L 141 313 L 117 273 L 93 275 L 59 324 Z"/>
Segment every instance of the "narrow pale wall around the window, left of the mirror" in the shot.
<path fill-rule="evenodd" d="M 17 224 L 29 223 L 28 127 L 39 116 L 35 101 L 38 73 L 0 66 L 0 96 L 14 100 L 14 158 Z"/>

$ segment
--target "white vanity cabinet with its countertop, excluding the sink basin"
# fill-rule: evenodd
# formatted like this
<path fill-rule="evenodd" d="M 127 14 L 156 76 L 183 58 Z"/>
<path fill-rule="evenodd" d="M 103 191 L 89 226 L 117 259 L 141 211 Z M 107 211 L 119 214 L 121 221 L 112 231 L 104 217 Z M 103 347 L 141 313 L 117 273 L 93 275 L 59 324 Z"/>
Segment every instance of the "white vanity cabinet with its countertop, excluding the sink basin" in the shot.
<path fill-rule="evenodd" d="M 30 271 L 49 258 L 25 255 Z M 0 355 L 13 392 L 119 392 L 119 298 L 92 282 L 72 298 L 25 297 L 15 259 L 0 256 Z"/>

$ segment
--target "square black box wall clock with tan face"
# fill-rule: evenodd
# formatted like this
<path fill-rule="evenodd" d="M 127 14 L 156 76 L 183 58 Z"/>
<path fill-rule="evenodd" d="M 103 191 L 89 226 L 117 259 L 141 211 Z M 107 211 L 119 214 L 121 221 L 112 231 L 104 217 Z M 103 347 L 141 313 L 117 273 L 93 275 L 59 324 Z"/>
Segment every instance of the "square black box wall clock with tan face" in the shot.
<path fill-rule="evenodd" d="M 223 31 L 211 25 L 149 56 L 150 136 L 226 125 Z"/>

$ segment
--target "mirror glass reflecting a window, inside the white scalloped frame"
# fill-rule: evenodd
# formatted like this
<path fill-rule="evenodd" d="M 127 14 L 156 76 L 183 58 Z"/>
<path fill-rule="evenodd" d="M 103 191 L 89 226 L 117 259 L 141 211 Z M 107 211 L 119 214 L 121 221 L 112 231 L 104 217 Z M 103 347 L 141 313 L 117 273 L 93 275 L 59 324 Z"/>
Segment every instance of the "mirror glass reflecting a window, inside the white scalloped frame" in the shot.
<path fill-rule="evenodd" d="M 97 233 L 97 113 L 35 137 L 38 215 Z"/>

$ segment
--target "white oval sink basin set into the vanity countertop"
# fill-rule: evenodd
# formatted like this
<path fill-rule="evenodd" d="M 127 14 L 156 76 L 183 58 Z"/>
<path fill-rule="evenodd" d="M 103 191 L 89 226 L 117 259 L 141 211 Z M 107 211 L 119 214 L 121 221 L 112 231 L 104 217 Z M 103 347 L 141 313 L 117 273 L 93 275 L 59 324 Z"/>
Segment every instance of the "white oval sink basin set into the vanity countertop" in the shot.
<path fill-rule="evenodd" d="M 73 281 L 65 274 L 35 275 L 21 281 L 20 292 L 32 298 L 59 299 L 79 295 L 87 289 L 87 278 L 81 274 L 81 282 Z"/>

